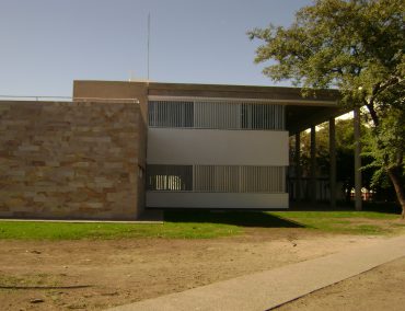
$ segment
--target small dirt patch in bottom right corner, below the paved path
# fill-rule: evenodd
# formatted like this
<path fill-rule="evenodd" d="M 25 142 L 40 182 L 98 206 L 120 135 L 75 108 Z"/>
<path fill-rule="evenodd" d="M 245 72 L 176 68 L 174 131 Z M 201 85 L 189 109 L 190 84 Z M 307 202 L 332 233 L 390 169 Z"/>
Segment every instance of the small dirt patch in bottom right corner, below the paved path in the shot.
<path fill-rule="evenodd" d="M 328 286 L 274 310 L 405 310 L 405 257 Z"/>

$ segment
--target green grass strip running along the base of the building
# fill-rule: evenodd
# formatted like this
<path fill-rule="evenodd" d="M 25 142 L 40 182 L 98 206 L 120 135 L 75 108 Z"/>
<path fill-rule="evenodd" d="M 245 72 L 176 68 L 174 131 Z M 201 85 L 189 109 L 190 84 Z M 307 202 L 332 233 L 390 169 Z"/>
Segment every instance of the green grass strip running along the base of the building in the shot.
<path fill-rule="evenodd" d="M 375 211 L 167 211 L 163 224 L 1 221 L 0 239 L 212 239 L 242 234 L 246 228 L 255 227 L 390 234 L 405 229 L 405 222 L 396 219 L 397 215 Z"/>

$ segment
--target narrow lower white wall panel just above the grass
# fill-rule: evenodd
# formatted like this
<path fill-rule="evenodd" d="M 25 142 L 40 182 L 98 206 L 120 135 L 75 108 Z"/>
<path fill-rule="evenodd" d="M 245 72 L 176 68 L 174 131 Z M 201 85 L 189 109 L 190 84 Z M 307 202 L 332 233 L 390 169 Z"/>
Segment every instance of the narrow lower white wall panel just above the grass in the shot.
<path fill-rule="evenodd" d="M 147 192 L 147 207 L 288 208 L 288 194 Z"/>

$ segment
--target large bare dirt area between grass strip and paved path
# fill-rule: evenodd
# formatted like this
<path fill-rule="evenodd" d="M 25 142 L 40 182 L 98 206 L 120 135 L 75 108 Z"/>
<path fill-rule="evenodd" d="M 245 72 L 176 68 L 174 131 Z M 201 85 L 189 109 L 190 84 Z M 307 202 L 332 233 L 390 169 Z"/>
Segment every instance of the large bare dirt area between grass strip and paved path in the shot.
<path fill-rule="evenodd" d="M 382 239 L 250 228 L 244 235 L 212 240 L 3 240 L 0 310 L 101 310 Z"/>

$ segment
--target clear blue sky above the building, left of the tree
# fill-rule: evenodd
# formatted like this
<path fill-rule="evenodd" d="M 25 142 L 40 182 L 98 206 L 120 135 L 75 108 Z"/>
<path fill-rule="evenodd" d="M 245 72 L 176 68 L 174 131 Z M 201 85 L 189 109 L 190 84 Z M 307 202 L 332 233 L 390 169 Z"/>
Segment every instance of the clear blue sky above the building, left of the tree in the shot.
<path fill-rule="evenodd" d="M 0 0 L 0 94 L 69 96 L 73 80 L 146 79 L 149 12 L 151 80 L 273 85 L 246 31 L 289 25 L 310 3 Z"/>

